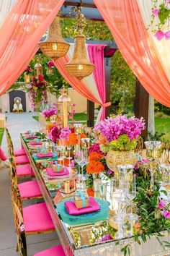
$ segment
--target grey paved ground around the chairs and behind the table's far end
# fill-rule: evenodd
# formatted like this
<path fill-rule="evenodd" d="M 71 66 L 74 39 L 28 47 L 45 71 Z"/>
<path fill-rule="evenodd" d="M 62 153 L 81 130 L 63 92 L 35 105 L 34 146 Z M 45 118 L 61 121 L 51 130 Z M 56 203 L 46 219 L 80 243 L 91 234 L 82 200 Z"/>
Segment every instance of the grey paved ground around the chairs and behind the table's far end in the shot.
<path fill-rule="evenodd" d="M 33 113 L 6 114 L 6 127 L 8 127 L 12 136 L 14 148 L 20 148 L 20 132 L 24 132 L 27 129 L 36 129 L 38 127 L 38 122 L 35 121 L 35 119 L 32 119 L 32 116 L 34 115 L 35 114 Z M 7 153 L 5 134 L 1 148 Z M 17 238 L 14 231 L 14 219 L 9 188 L 9 168 L 0 169 L 0 256 L 19 255 L 16 252 Z M 30 202 L 24 202 L 23 206 L 28 203 Z M 53 234 L 27 236 L 28 256 L 32 256 L 35 253 L 58 243 L 58 236 L 55 232 Z"/>

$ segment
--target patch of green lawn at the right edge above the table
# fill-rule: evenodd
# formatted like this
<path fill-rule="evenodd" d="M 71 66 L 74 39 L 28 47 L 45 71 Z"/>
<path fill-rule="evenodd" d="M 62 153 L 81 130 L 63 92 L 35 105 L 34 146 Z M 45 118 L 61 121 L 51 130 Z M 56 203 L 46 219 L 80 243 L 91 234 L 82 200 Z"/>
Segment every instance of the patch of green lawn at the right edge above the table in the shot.
<path fill-rule="evenodd" d="M 165 133 L 161 138 L 170 141 L 170 117 L 169 118 L 155 118 L 155 127 L 158 134 Z"/>

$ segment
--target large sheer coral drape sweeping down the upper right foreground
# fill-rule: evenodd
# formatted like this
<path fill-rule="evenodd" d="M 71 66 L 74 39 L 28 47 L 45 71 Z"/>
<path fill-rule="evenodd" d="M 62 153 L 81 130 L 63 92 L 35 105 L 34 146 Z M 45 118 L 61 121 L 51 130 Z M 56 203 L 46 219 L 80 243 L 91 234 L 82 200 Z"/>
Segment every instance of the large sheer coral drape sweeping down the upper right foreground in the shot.
<path fill-rule="evenodd" d="M 170 81 L 143 23 L 137 0 L 94 0 L 122 56 L 156 101 L 170 107 Z"/>

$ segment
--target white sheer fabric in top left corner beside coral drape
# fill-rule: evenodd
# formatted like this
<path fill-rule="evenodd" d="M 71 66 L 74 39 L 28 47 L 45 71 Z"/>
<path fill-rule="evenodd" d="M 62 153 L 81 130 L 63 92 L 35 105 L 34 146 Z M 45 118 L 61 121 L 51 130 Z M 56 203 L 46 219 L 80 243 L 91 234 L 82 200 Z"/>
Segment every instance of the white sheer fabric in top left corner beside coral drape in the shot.
<path fill-rule="evenodd" d="M 0 1 L 0 27 L 3 25 L 4 20 L 6 19 L 6 16 L 9 14 L 11 11 L 14 3 L 16 0 L 1 0 Z"/>

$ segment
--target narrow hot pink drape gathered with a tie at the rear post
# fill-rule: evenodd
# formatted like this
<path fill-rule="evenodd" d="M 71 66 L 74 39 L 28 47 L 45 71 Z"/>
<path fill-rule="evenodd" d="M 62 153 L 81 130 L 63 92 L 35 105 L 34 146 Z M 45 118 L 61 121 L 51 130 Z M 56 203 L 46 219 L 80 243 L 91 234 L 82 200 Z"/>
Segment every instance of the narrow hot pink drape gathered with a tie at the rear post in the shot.
<path fill-rule="evenodd" d="M 104 70 L 104 45 L 88 45 L 89 59 L 95 65 L 94 67 L 94 80 L 97 85 L 97 90 L 101 98 L 102 104 L 106 101 L 106 88 L 105 88 L 105 70 Z M 101 120 L 105 118 L 105 109 L 102 108 Z"/>

